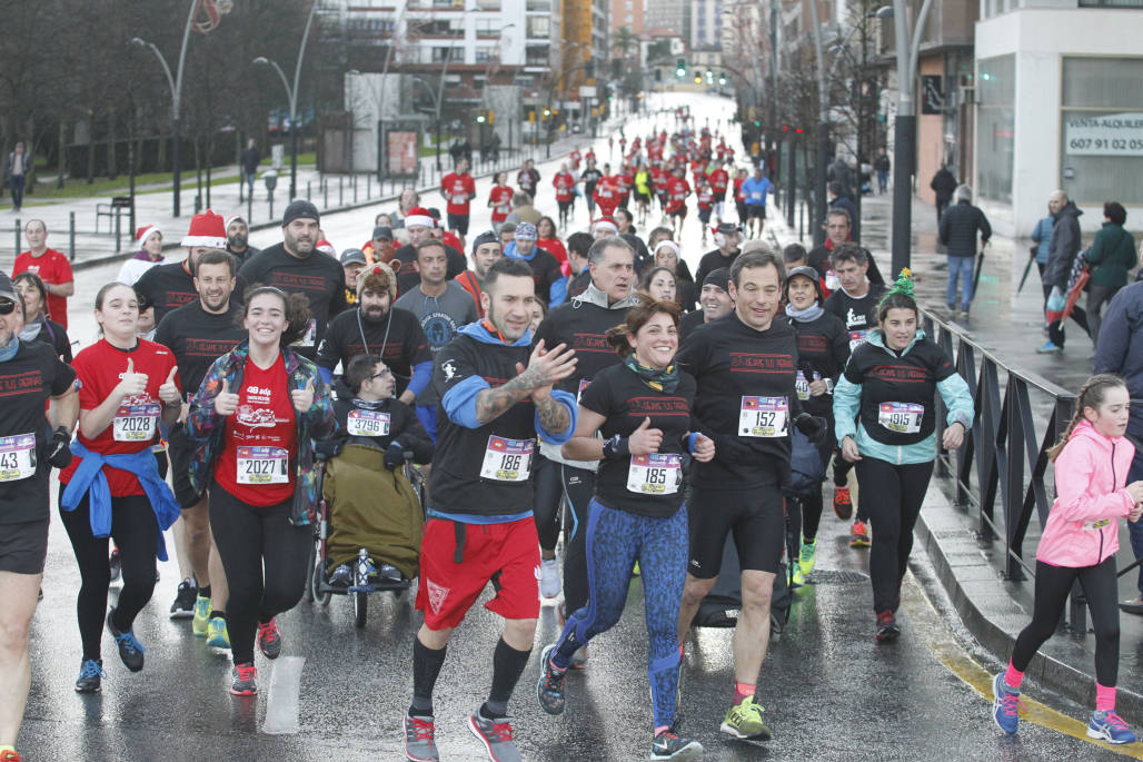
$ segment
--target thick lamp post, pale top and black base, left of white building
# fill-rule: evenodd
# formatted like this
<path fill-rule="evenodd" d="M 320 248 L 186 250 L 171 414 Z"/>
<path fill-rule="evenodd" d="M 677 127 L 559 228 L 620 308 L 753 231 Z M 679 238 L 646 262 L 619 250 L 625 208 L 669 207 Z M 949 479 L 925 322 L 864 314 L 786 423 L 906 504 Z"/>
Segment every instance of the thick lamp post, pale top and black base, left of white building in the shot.
<path fill-rule="evenodd" d="M 893 121 L 893 273 L 911 262 L 913 224 L 913 162 L 917 154 L 917 58 L 921 34 L 933 0 L 925 0 L 910 35 L 905 0 L 893 0 L 877 11 L 878 18 L 893 17 L 897 43 L 897 116 Z"/>

